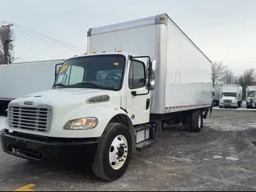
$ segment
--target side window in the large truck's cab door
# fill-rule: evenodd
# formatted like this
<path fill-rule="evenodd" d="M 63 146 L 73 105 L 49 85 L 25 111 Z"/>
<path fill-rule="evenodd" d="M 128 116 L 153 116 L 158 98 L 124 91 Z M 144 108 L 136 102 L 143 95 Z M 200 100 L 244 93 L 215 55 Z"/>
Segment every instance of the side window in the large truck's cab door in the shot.
<path fill-rule="evenodd" d="M 146 85 L 146 69 L 143 62 L 133 61 L 130 64 L 129 88 L 130 90 L 142 88 Z"/>

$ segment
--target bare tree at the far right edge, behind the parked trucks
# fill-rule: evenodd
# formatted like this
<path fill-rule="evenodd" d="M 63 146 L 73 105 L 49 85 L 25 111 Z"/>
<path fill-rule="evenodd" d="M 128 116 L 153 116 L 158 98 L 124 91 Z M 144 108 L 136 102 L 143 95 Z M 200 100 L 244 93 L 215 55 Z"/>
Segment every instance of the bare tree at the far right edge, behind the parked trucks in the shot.
<path fill-rule="evenodd" d="M 242 86 L 243 95 L 246 95 L 246 86 L 253 86 L 256 83 L 256 72 L 254 68 L 244 70 L 243 74 L 238 78 L 240 86 Z"/>

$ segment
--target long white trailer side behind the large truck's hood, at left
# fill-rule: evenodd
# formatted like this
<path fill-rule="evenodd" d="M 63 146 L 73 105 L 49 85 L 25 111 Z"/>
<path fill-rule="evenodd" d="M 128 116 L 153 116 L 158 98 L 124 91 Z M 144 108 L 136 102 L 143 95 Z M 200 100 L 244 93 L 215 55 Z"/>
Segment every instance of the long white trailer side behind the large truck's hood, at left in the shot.
<path fill-rule="evenodd" d="M 0 113 L 15 98 L 49 90 L 54 83 L 54 68 L 63 62 L 56 59 L 0 65 Z"/>

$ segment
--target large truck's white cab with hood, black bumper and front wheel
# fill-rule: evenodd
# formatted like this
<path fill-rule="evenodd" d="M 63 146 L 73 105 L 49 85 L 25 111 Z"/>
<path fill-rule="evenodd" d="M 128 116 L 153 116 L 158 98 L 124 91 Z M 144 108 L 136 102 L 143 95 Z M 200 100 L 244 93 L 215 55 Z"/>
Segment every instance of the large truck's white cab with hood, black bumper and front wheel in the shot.
<path fill-rule="evenodd" d="M 1 132 L 3 150 L 35 160 L 49 152 L 95 151 L 94 173 L 114 180 L 126 170 L 135 144 L 149 138 L 144 136 L 149 129 L 140 127 L 134 133 L 134 126 L 150 121 L 150 90 L 150 57 L 115 52 L 67 59 L 52 90 L 10 102 Z M 85 150 L 87 146 L 96 150 Z"/>

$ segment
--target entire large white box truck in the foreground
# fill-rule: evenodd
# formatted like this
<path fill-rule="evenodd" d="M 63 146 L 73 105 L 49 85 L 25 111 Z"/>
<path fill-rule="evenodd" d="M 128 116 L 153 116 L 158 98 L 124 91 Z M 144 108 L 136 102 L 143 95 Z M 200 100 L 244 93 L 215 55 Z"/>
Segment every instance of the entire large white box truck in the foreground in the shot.
<path fill-rule="evenodd" d="M 94 174 L 114 181 L 162 123 L 202 129 L 211 62 L 167 14 L 90 29 L 87 51 L 63 63 L 52 90 L 10 102 L 6 153 L 92 154 Z"/>

